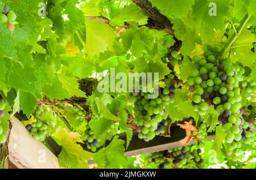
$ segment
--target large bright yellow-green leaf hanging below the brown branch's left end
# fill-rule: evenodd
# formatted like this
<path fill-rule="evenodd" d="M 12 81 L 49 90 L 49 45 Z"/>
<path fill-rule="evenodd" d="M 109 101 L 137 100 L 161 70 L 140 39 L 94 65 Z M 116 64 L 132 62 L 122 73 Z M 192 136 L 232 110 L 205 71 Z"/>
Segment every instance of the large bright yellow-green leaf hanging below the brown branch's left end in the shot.
<path fill-rule="evenodd" d="M 103 22 L 85 19 L 86 25 L 86 53 L 92 57 L 100 55 L 106 50 L 113 51 L 115 33 Z"/>

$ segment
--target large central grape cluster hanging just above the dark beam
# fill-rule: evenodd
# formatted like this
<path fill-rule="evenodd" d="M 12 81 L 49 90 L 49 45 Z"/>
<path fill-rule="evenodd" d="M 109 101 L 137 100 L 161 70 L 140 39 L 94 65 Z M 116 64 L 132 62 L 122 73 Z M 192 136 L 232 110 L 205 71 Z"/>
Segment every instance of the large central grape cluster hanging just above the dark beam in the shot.
<path fill-rule="evenodd" d="M 168 90 L 168 89 L 167 89 Z M 150 93 L 133 93 L 131 99 L 133 100 L 134 106 L 134 123 L 138 125 L 137 128 L 138 137 L 144 139 L 146 142 L 154 139 L 156 134 L 164 132 L 159 131 L 159 127 L 166 125 L 165 108 L 169 104 L 170 96 L 169 92 L 164 91 L 158 98 L 150 99 L 148 96 Z M 163 128 L 162 128 L 163 129 Z"/>

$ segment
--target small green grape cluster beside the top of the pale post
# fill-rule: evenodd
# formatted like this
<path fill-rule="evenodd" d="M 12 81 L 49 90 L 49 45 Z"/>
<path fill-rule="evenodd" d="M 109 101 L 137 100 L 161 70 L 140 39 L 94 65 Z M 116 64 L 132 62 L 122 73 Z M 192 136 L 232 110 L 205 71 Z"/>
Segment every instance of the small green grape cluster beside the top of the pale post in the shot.
<path fill-rule="evenodd" d="M 41 142 L 46 139 L 46 135 L 48 134 L 47 123 L 36 119 L 36 122 L 32 122 L 31 125 L 27 125 L 26 128 L 35 139 L 40 140 Z"/>

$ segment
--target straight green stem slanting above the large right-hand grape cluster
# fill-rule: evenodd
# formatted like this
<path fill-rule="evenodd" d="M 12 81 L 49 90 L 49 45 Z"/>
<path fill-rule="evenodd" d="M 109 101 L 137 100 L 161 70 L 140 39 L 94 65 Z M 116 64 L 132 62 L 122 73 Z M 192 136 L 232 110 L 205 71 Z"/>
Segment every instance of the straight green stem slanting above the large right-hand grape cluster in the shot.
<path fill-rule="evenodd" d="M 226 52 L 226 50 L 230 48 L 230 46 L 234 43 L 234 41 L 236 41 L 237 37 L 241 34 L 243 28 L 245 28 L 245 25 L 247 24 L 250 18 L 251 18 L 251 15 L 246 15 L 245 18 L 243 18 L 240 26 L 237 28 L 237 31 L 233 34 L 233 36 L 230 38 L 230 40 L 226 43 L 224 48 L 218 54 L 219 56 L 222 56 Z"/>

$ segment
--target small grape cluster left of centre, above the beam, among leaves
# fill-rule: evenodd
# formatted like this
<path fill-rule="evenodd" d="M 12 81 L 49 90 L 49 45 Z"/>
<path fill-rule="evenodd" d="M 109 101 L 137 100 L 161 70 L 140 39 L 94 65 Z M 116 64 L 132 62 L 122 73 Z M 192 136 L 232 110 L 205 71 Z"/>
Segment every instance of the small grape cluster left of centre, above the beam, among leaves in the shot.
<path fill-rule="evenodd" d="M 96 152 L 97 148 L 101 146 L 101 139 L 96 139 L 96 136 L 93 134 L 93 131 L 91 130 L 89 125 L 86 125 L 86 130 L 84 131 L 84 135 L 82 135 L 82 139 L 87 145 L 87 148 L 90 149 L 92 152 Z"/>

